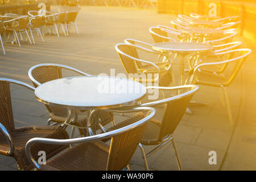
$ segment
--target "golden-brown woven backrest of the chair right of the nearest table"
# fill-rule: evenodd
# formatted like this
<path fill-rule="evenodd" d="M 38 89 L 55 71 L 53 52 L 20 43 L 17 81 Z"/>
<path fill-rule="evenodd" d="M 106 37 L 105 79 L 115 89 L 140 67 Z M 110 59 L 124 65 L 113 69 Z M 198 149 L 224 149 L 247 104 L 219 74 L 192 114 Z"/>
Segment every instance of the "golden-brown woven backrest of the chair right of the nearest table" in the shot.
<path fill-rule="evenodd" d="M 167 135 L 174 133 L 188 107 L 189 102 L 191 101 L 192 96 L 193 94 L 183 96 L 178 100 L 170 101 L 166 104 L 159 132 L 159 141 L 162 141 L 162 139 Z"/>

